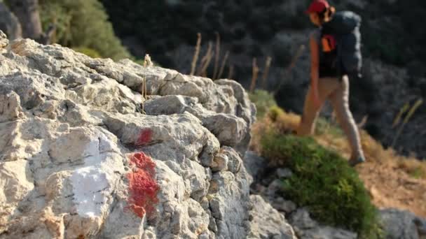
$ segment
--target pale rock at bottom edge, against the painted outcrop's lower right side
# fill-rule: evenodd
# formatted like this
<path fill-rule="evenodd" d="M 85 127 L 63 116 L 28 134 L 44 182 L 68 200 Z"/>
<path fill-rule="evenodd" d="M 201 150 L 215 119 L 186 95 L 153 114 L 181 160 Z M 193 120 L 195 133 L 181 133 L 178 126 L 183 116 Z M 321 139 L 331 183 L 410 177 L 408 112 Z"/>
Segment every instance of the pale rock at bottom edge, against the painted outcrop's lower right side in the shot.
<path fill-rule="evenodd" d="M 261 196 L 250 196 L 251 217 L 247 238 L 296 239 L 284 216 L 266 203 Z"/>

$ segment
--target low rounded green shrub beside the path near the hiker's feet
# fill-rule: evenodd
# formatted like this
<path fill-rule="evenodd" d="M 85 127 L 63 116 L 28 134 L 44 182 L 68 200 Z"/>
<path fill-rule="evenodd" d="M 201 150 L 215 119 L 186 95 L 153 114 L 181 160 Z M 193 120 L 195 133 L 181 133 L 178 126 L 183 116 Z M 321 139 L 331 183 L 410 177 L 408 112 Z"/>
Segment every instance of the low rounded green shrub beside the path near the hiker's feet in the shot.
<path fill-rule="evenodd" d="M 357 172 L 336 152 L 312 138 L 268 132 L 261 152 L 273 165 L 291 168 L 284 195 L 307 207 L 312 217 L 330 226 L 357 231 L 360 238 L 380 238 L 376 208 Z"/>

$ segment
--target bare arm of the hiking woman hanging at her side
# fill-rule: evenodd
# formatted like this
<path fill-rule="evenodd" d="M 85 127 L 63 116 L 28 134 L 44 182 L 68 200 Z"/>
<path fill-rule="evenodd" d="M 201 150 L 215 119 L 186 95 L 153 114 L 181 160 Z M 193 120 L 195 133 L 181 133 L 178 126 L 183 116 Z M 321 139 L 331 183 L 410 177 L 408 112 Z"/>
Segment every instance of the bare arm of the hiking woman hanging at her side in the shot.
<path fill-rule="evenodd" d="M 315 34 L 310 35 L 310 87 L 312 89 L 312 99 L 315 106 L 320 107 L 320 98 L 318 94 L 318 70 L 320 64 L 320 54 L 318 43 L 315 40 Z"/>

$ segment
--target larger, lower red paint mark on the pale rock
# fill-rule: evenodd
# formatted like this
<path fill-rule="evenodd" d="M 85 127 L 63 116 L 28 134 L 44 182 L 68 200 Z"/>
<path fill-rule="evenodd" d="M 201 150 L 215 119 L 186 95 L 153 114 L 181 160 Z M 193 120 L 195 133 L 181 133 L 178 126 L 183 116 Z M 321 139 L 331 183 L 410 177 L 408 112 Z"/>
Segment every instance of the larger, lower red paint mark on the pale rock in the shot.
<path fill-rule="evenodd" d="M 158 186 L 156 178 L 156 164 L 151 157 L 143 152 L 130 155 L 130 165 L 136 170 L 128 173 L 129 192 L 128 208 L 132 209 L 138 217 L 144 217 L 145 213 L 151 213 L 158 203 Z"/>

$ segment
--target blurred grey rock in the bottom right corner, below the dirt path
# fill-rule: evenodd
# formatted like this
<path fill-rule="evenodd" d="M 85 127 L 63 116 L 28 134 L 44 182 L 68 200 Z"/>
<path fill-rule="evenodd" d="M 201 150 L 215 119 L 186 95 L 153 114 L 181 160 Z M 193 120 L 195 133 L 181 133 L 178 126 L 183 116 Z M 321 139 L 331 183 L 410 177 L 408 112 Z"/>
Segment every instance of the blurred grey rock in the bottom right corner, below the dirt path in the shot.
<path fill-rule="evenodd" d="M 411 212 L 397 209 L 380 210 L 380 219 L 386 238 L 423 238 L 426 236 L 426 219 L 416 217 Z"/>

